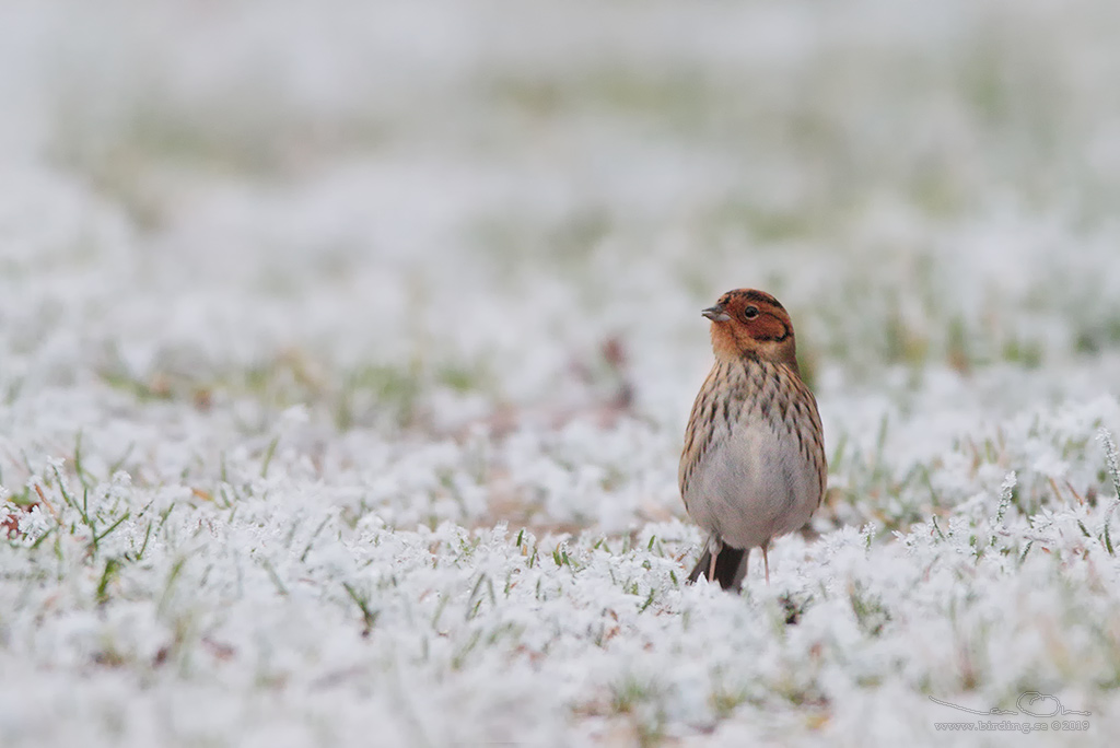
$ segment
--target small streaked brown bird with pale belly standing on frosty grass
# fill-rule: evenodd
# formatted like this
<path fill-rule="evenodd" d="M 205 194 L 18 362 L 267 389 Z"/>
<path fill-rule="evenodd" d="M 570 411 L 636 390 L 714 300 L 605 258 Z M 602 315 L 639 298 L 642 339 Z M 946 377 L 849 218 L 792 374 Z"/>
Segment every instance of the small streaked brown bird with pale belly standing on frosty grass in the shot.
<path fill-rule="evenodd" d="M 797 530 L 828 479 L 816 400 L 801 381 L 790 315 L 769 293 L 728 291 L 703 310 L 716 364 L 684 432 L 678 474 L 689 516 L 708 542 L 689 574 L 738 590 L 750 549 Z"/>

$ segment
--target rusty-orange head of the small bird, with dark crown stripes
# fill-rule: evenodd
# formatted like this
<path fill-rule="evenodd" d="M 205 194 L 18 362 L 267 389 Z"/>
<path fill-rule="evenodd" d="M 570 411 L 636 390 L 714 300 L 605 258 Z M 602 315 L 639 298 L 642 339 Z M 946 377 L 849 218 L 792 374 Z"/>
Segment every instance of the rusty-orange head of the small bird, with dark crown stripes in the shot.
<path fill-rule="evenodd" d="M 711 347 L 720 359 L 757 356 L 797 368 L 793 322 L 777 299 L 764 291 L 728 291 L 703 310 L 711 320 Z"/>

